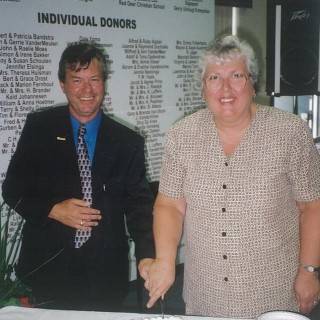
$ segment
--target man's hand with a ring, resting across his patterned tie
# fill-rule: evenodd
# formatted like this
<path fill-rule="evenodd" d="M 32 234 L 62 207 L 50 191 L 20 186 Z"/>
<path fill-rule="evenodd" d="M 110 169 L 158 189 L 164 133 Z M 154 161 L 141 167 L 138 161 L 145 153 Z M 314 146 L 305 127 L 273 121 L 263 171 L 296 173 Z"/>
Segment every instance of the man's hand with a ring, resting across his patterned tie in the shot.
<path fill-rule="evenodd" d="M 90 208 L 86 201 L 67 199 L 52 207 L 49 218 L 75 229 L 91 230 L 98 225 L 101 214 L 99 210 Z"/>

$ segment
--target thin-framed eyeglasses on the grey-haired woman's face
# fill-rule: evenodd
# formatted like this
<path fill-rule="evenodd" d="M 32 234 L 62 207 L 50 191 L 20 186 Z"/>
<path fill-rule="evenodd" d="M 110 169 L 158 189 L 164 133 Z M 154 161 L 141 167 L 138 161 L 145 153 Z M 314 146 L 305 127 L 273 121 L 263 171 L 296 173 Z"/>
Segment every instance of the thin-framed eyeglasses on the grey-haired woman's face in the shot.
<path fill-rule="evenodd" d="M 231 89 L 240 92 L 246 86 L 249 77 L 250 75 L 242 72 L 234 72 L 227 78 L 223 78 L 218 73 L 212 73 L 205 79 L 205 84 L 209 90 L 218 91 L 223 87 L 224 81 L 227 80 Z"/>

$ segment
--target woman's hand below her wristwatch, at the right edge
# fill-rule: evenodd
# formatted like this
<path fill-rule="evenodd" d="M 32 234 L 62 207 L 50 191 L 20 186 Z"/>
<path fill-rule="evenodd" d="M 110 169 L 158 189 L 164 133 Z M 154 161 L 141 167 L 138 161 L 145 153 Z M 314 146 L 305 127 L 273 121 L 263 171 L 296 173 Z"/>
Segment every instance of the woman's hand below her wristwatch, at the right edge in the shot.
<path fill-rule="evenodd" d="M 294 289 L 299 311 L 305 314 L 310 313 L 319 302 L 320 283 L 318 273 L 299 269 Z"/>

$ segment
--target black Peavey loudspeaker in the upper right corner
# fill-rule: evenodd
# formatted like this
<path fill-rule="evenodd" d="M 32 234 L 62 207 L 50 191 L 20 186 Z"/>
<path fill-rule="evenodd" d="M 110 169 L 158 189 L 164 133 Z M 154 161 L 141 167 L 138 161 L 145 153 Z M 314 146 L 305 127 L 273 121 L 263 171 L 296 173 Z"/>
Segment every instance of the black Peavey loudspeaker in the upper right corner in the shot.
<path fill-rule="evenodd" d="M 267 93 L 319 95 L 319 0 L 269 0 Z"/>

